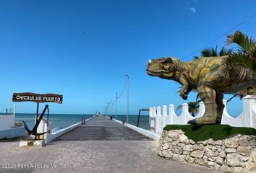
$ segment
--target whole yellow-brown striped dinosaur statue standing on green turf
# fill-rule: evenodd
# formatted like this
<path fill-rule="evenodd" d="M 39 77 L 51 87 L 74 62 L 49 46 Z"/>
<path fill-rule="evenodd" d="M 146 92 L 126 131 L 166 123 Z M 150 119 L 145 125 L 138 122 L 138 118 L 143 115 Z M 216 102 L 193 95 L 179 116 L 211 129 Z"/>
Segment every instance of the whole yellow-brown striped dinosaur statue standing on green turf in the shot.
<path fill-rule="evenodd" d="M 256 86 L 256 75 L 247 68 L 228 66 L 227 56 L 202 57 L 182 62 L 178 58 L 158 58 L 149 61 L 147 73 L 182 84 L 179 95 L 187 99 L 196 89 L 205 104 L 205 114 L 189 124 L 221 123 L 224 109 L 223 94 L 238 92 L 247 86 Z"/>

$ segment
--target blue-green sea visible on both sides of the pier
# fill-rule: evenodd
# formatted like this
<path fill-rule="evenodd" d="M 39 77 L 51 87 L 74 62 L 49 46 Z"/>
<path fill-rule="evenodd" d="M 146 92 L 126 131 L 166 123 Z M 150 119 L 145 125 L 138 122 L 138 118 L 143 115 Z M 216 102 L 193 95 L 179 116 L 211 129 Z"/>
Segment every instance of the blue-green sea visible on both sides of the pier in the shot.
<path fill-rule="evenodd" d="M 0 114 L 4 115 L 4 114 Z M 45 115 L 46 117 L 47 115 Z M 69 125 L 73 125 L 75 123 L 81 122 L 82 117 L 88 119 L 93 117 L 93 115 L 75 115 L 75 114 L 50 114 L 49 121 L 51 122 L 51 128 L 53 131 L 60 130 L 62 128 L 67 128 Z M 117 117 L 117 120 L 121 120 L 126 122 L 127 115 L 113 115 L 113 118 Z M 129 115 L 129 124 L 137 125 L 137 115 Z M 24 113 L 17 113 L 15 117 L 16 121 L 25 121 L 28 128 L 32 129 L 35 124 L 35 114 L 24 114 Z M 140 116 L 140 128 L 144 128 L 146 130 L 149 129 L 149 117 L 142 115 Z"/>

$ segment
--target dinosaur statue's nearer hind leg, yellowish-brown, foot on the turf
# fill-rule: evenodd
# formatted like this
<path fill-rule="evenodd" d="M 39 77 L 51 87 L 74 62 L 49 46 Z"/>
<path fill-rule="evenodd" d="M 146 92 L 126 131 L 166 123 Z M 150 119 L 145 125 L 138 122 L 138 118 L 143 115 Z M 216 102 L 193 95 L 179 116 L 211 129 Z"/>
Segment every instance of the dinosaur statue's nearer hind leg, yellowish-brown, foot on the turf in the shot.
<path fill-rule="evenodd" d="M 197 92 L 205 104 L 205 114 L 202 117 L 197 117 L 195 120 L 190 120 L 188 123 L 197 125 L 216 124 L 216 91 L 209 86 L 201 85 L 197 87 Z"/>

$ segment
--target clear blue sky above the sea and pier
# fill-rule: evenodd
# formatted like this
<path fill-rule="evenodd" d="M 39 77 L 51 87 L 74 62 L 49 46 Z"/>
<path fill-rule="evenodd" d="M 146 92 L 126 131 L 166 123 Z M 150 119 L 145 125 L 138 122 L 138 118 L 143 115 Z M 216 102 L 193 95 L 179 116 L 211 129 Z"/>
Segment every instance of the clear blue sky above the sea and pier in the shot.
<path fill-rule="evenodd" d="M 189 61 L 202 48 L 221 48 L 226 37 L 220 36 L 255 13 L 253 0 L 0 1 L 0 112 L 12 107 L 14 92 L 63 94 L 62 105 L 49 104 L 51 113 L 103 112 L 126 74 L 131 114 L 181 105 L 180 85 L 148 76 L 148 59 Z M 256 37 L 255 22 L 236 30 Z M 194 100 L 192 93 L 188 101 Z M 17 112 L 35 109 L 33 102 L 17 103 Z M 242 102 L 234 99 L 228 110 L 239 115 Z M 118 99 L 118 113 L 126 112 L 127 89 Z"/>

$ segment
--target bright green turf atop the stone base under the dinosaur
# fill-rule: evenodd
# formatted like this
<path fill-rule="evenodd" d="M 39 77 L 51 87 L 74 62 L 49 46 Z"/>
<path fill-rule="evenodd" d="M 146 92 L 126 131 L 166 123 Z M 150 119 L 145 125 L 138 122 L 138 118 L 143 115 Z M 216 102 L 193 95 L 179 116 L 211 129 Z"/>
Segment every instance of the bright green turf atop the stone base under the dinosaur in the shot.
<path fill-rule="evenodd" d="M 217 141 L 238 134 L 256 136 L 254 128 L 236 128 L 230 125 L 166 125 L 163 130 L 182 130 L 195 142 L 205 141 L 208 138 Z"/>

